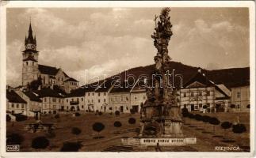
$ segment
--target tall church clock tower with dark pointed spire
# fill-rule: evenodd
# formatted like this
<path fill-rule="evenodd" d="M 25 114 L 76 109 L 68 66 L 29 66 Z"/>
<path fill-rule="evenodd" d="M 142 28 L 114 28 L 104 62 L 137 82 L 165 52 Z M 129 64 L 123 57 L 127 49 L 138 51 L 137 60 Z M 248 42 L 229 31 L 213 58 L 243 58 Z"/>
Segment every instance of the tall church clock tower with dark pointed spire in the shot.
<path fill-rule="evenodd" d="M 29 35 L 25 36 L 25 51 L 22 51 L 22 85 L 29 85 L 38 78 L 38 52 L 36 51 L 36 36 L 32 35 L 31 22 Z"/>

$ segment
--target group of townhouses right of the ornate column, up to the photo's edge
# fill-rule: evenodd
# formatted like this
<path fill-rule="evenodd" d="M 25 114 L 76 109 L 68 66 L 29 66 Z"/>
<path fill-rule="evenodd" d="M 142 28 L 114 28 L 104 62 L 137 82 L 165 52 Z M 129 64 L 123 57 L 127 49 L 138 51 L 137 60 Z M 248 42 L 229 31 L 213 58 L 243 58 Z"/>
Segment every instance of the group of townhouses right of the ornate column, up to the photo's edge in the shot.
<path fill-rule="evenodd" d="M 228 112 L 249 111 L 250 82 L 227 88 L 224 84 L 216 84 L 198 70 L 184 88 L 178 90 L 181 108 L 189 111 Z M 235 105 L 235 109 L 231 105 Z"/>

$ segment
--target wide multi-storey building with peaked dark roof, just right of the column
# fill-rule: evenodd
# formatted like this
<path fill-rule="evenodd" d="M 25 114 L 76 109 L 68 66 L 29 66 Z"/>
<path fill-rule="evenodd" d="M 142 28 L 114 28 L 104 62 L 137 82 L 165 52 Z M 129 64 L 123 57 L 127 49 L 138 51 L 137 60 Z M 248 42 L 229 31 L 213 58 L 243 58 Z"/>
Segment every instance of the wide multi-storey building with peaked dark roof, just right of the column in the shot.
<path fill-rule="evenodd" d="M 178 93 L 181 108 L 186 107 L 189 111 L 227 111 L 230 106 L 230 90 L 208 80 L 201 70 Z"/>

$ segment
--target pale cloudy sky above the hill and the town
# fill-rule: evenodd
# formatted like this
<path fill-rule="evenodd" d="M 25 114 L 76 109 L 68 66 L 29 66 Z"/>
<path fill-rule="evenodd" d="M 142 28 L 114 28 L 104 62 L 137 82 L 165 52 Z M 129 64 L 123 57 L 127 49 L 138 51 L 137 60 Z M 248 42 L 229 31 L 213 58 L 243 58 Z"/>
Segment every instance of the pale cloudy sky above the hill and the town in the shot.
<path fill-rule="evenodd" d="M 7 9 L 7 84 L 21 85 L 25 35 L 36 34 L 39 63 L 61 67 L 81 84 L 87 75 L 154 63 L 151 33 L 160 8 Z M 246 8 L 172 8 L 170 56 L 208 70 L 249 66 Z"/>

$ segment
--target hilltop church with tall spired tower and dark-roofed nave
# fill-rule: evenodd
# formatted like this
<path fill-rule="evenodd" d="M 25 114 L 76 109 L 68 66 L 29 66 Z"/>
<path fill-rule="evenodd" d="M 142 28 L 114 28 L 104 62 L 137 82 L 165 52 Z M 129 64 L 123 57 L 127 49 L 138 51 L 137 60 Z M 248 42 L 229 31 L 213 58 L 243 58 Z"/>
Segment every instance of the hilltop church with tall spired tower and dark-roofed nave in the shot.
<path fill-rule="evenodd" d="M 22 85 L 28 86 L 32 81 L 40 81 L 42 87 L 58 85 L 65 92 L 78 88 L 78 81 L 69 77 L 61 68 L 44 66 L 38 63 L 39 51 L 36 50 L 36 36 L 32 35 L 31 23 L 29 35 L 25 36 L 25 51 L 22 51 Z"/>

